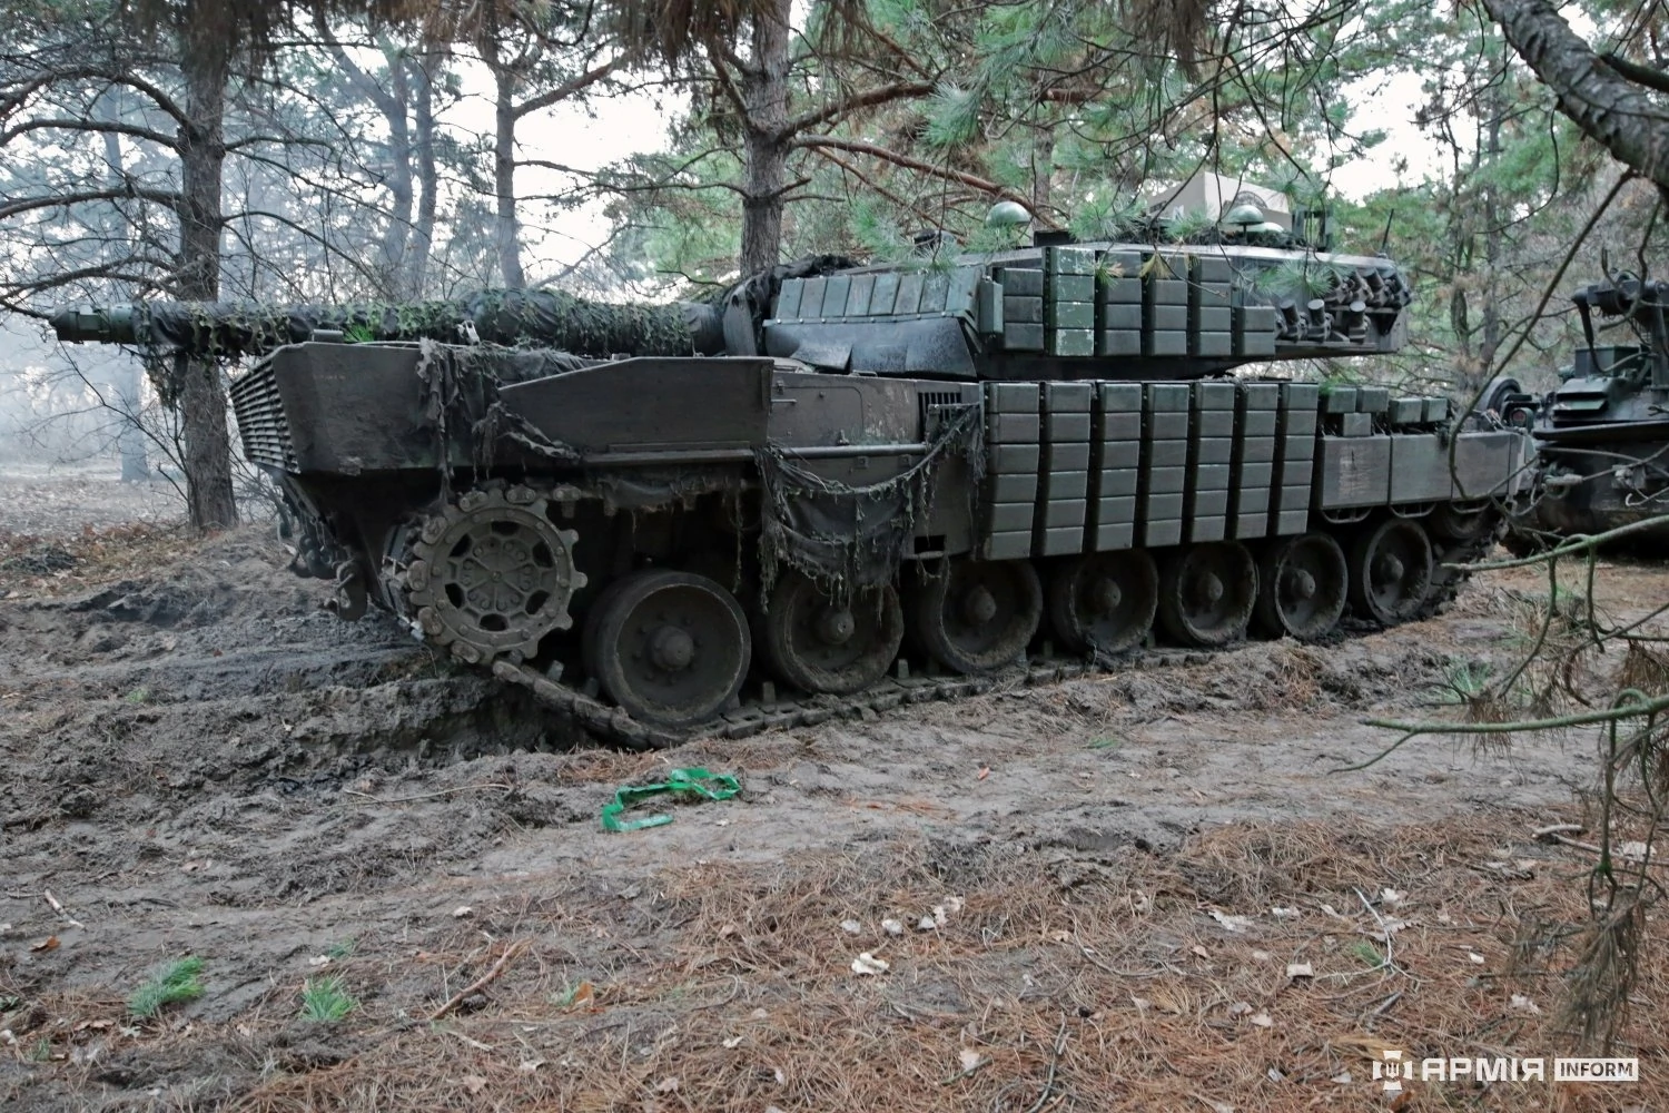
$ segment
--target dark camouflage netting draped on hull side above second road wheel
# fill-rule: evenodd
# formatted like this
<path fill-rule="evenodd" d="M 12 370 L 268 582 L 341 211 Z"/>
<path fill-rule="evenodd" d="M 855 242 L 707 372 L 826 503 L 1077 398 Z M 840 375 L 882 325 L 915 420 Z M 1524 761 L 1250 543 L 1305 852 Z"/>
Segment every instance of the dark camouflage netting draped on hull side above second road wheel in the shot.
<path fill-rule="evenodd" d="M 784 564 L 819 582 L 836 601 L 890 581 L 905 561 L 916 522 L 933 512 L 940 466 L 960 454 L 980 467 L 980 412 L 978 405 L 945 407 L 926 454 L 908 471 L 865 487 L 826 479 L 791 451 L 758 449 L 764 591 Z"/>

